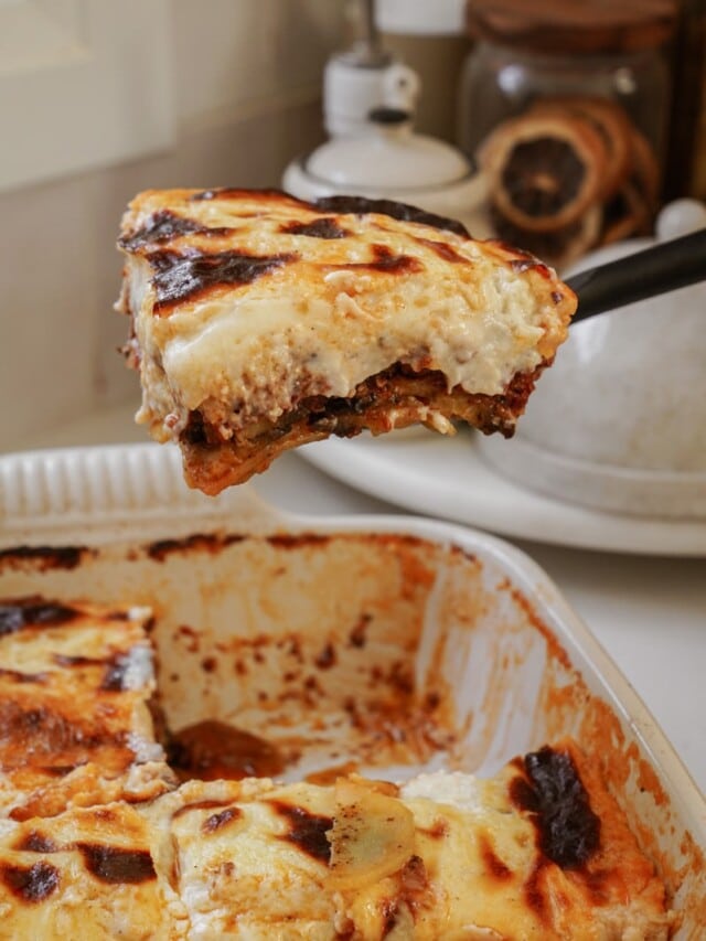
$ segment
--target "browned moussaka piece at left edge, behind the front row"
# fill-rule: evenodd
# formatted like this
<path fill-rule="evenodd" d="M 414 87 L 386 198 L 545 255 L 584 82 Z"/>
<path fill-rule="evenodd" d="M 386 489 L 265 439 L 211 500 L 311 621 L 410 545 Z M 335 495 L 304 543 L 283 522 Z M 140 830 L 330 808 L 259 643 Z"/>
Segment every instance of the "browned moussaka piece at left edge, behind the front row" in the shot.
<path fill-rule="evenodd" d="M 0 816 L 145 800 L 170 787 L 148 706 L 149 616 L 40 597 L 0 601 Z"/>

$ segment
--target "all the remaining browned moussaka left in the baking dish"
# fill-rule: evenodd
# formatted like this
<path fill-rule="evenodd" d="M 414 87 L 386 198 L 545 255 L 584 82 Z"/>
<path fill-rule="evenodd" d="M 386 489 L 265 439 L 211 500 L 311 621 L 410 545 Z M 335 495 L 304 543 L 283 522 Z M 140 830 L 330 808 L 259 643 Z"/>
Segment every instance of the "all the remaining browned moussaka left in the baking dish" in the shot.
<path fill-rule="evenodd" d="M 488 779 L 178 784 L 145 609 L 18 598 L 0 625 L 0 938 L 668 937 L 571 739 Z"/>

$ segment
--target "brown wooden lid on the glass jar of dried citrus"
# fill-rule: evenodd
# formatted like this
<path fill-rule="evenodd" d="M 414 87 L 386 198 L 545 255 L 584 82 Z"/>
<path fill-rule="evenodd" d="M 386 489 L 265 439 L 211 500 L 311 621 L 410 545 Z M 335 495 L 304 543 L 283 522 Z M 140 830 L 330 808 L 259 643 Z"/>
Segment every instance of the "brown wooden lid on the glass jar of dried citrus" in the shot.
<path fill-rule="evenodd" d="M 468 0 L 474 39 L 528 52 L 600 55 L 653 49 L 676 24 L 677 0 Z"/>

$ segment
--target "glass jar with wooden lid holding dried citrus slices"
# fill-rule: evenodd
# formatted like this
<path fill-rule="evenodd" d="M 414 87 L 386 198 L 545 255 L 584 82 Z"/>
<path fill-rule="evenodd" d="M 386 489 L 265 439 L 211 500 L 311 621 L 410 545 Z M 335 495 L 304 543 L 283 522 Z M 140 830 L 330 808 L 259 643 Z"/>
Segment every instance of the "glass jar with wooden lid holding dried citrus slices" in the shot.
<path fill-rule="evenodd" d="M 488 178 L 490 229 L 557 266 L 651 231 L 659 207 L 676 8 L 612 7 L 468 2 L 459 143 Z"/>

